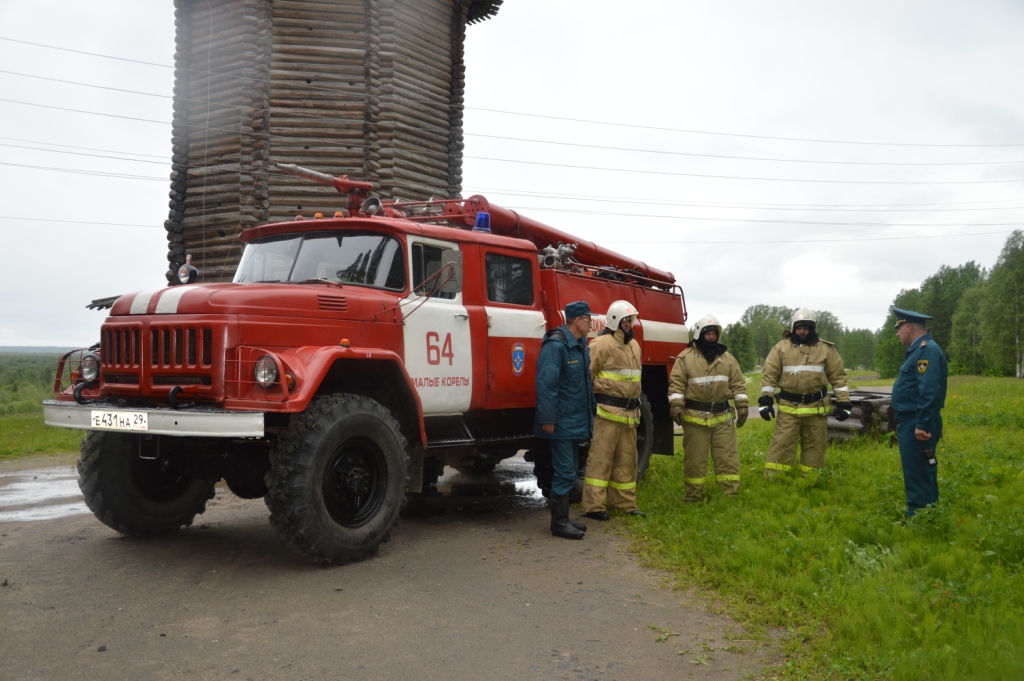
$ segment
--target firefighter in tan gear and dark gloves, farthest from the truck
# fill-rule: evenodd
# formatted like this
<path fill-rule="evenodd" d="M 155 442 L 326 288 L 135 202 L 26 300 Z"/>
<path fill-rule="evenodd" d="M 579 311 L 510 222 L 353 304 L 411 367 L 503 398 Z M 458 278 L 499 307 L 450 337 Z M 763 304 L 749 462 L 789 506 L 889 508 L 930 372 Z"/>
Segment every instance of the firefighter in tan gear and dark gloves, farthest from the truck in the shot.
<path fill-rule="evenodd" d="M 768 352 L 761 376 L 761 418 L 778 419 L 765 457 L 765 475 L 792 471 L 800 444 L 800 471 L 807 474 L 825 465 L 828 430 L 828 385 L 836 391 L 836 418 L 850 418 L 850 388 L 836 346 L 818 338 L 817 316 L 801 308 L 793 315 L 786 338 Z"/>

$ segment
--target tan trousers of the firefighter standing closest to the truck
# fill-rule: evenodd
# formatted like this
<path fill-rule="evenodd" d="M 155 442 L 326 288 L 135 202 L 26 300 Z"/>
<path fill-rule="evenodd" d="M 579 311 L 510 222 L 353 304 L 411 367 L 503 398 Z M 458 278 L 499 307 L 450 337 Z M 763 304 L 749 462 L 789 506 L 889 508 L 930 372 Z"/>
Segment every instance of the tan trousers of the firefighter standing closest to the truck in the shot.
<path fill-rule="evenodd" d="M 637 429 L 600 417 L 594 419 L 594 439 L 587 455 L 584 513 L 632 511 L 637 507 Z"/>

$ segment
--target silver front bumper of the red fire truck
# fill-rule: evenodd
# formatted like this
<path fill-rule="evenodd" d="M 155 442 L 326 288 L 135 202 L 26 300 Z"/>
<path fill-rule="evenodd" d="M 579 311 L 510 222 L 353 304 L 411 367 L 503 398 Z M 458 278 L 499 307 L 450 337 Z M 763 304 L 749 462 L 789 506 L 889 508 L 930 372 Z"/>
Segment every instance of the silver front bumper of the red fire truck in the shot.
<path fill-rule="evenodd" d="M 144 412 L 148 427 L 144 431 L 119 428 L 95 427 L 93 411 L 124 412 L 137 414 Z M 76 428 L 80 430 L 110 430 L 150 435 L 177 435 L 179 437 L 262 437 L 262 412 L 226 412 L 208 407 L 184 409 L 130 409 L 116 403 L 76 402 L 47 399 L 43 402 L 43 420 L 48 426 Z"/>

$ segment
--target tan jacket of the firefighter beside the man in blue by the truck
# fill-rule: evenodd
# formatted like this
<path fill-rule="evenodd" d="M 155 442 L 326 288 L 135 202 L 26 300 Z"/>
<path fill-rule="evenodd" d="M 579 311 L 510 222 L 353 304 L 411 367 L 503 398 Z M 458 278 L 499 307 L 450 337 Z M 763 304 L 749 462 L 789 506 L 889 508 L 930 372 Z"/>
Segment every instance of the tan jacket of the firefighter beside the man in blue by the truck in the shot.
<path fill-rule="evenodd" d="M 639 399 L 642 368 L 640 343 L 635 338 L 627 343 L 622 329 L 601 334 L 590 343 L 590 375 L 596 393 Z M 598 402 L 597 415 L 631 426 L 640 423 L 639 408 L 628 410 Z"/>

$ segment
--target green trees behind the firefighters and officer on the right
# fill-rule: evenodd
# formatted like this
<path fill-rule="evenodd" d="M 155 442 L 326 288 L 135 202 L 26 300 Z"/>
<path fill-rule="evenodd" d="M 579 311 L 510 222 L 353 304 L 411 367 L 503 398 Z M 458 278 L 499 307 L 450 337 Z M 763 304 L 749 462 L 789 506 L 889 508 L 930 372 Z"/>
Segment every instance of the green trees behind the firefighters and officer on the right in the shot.
<path fill-rule="evenodd" d="M 991 270 L 978 263 L 942 265 L 916 289 L 904 289 L 893 306 L 935 317 L 930 332 L 945 350 L 953 374 L 1024 377 L 1024 232 L 1013 231 Z M 796 308 L 753 305 L 722 331 L 722 342 L 740 368 L 752 371 L 790 328 Z M 890 311 L 877 331 L 848 329 L 828 310 L 815 310 L 818 336 L 836 343 L 850 369 L 876 369 L 893 377 L 905 348 L 893 333 Z"/>

